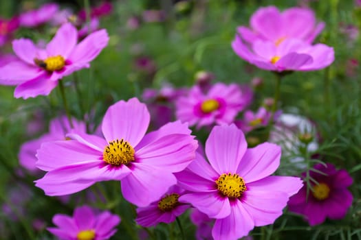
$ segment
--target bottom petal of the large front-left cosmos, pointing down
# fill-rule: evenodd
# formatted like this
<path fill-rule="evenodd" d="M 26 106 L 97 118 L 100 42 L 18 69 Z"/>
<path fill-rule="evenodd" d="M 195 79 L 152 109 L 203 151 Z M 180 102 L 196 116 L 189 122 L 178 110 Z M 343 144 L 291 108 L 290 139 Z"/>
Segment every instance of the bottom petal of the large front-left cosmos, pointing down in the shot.
<path fill-rule="evenodd" d="M 172 173 L 144 165 L 133 163 L 133 171 L 122 179 L 122 194 L 126 200 L 136 206 L 148 206 L 177 183 Z"/>

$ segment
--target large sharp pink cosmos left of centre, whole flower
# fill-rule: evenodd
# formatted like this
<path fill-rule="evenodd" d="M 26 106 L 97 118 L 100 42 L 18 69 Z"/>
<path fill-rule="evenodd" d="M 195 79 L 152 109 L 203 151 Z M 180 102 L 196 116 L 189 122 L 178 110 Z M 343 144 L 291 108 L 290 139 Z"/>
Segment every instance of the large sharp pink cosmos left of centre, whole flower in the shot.
<path fill-rule="evenodd" d="M 36 166 L 47 173 L 36 186 L 46 195 L 66 195 L 95 182 L 120 180 L 129 202 L 148 206 L 159 200 L 177 183 L 173 173 L 195 158 L 197 141 L 179 121 L 145 134 L 149 121 L 145 104 L 132 98 L 108 108 L 105 138 L 78 133 L 67 134 L 74 140 L 43 143 Z"/>

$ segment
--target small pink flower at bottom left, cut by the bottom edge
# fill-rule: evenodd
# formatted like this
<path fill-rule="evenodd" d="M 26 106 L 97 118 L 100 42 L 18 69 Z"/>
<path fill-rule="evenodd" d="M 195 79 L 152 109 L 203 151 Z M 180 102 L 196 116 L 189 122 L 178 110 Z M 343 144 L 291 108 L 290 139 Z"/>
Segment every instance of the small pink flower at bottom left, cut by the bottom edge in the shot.
<path fill-rule="evenodd" d="M 109 211 L 95 213 L 89 206 L 80 206 L 74 210 L 74 216 L 56 214 L 53 217 L 56 228 L 47 228 L 49 232 L 62 240 L 104 240 L 116 233 L 120 217 Z"/>

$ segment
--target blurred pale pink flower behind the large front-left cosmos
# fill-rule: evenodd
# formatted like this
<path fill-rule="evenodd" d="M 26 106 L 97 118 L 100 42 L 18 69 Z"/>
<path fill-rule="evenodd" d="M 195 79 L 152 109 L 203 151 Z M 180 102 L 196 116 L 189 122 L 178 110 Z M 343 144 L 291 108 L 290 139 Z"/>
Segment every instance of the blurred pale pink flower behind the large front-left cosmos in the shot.
<path fill-rule="evenodd" d="M 50 121 L 49 132 L 43 134 L 39 139 L 34 139 L 23 143 L 19 151 L 19 163 L 31 173 L 37 173 L 39 169 L 35 166 L 36 163 L 36 150 L 40 149 L 42 143 L 50 141 L 66 140 L 65 135 L 70 132 L 87 132 L 85 123 L 72 119 L 74 128 L 71 128 L 67 117 L 58 117 Z"/>

